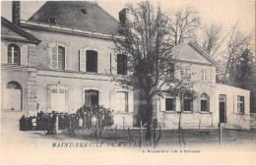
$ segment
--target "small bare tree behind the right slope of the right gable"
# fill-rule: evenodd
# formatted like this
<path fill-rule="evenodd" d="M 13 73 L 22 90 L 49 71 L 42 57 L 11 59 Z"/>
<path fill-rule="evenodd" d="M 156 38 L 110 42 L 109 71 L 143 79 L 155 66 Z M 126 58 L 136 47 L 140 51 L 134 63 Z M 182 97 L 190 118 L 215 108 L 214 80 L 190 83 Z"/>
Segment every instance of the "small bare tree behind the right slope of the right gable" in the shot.
<path fill-rule="evenodd" d="M 220 50 L 220 47 L 224 41 L 222 38 L 222 27 L 211 24 L 202 28 L 202 48 L 208 55 L 215 58 L 216 53 Z"/>

